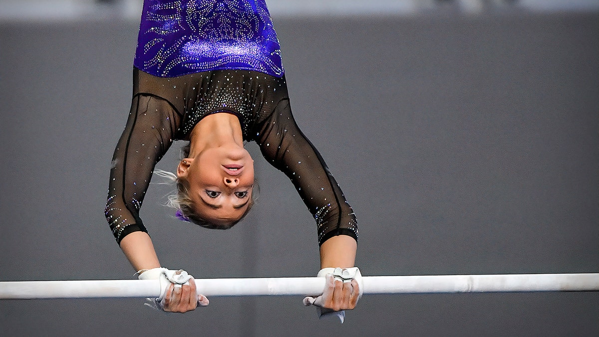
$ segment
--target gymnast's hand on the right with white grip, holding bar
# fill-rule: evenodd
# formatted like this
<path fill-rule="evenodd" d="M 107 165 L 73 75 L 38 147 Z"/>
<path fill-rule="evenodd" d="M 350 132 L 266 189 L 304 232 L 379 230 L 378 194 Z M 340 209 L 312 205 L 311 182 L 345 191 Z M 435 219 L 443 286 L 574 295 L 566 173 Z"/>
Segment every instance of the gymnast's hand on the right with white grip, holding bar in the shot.
<path fill-rule="evenodd" d="M 320 270 L 318 276 L 326 278 L 325 289 L 317 297 L 305 297 L 304 305 L 317 306 L 319 318 L 338 317 L 343 323 L 344 310 L 352 310 L 361 297 L 361 274 L 358 267 L 353 268 L 325 268 Z"/>

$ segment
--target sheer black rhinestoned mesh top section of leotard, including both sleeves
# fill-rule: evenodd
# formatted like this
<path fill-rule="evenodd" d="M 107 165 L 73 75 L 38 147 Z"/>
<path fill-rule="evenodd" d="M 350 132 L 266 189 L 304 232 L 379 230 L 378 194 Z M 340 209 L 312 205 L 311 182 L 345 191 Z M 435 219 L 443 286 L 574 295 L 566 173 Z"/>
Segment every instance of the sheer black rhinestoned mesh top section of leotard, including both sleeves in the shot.
<path fill-rule="evenodd" d="M 289 177 L 316 219 L 318 242 L 335 235 L 358 239 L 352 207 L 291 113 L 285 77 L 217 70 L 175 78 L 134 70 L 134 100 L 113 157 L 105 215 L 117 239 L 144 230 L 139 210 L 153 169 L 173 140 L 189 140 L 211 113 L 238 116 L 244 140 Z M 139 229 L 132 225 L 137 225 Z"/>

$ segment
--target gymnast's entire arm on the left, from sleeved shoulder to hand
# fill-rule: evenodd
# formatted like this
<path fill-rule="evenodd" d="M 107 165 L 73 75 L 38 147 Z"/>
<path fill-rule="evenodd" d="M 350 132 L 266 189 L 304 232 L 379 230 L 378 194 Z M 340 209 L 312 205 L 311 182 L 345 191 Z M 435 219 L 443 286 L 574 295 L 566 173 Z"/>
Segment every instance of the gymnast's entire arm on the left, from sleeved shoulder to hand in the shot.
<path fill-rule="evenodd" d="M 141 279 L 165 278 L 164 272 L 169 272 L 160 268 L 139 212 L 154 167 L 173 144 L 180 120 L 167 101 L 152 95 L 136 95 L 114 150 L 104 213 L 120 248 Z M 197 305 L 208 305 L 208 299 L 196 293 L 191 278 L 189 284 L 177 287 L 172 281 L 165 283 L 155 304 L 164 311 L 186 312 Z"/>

